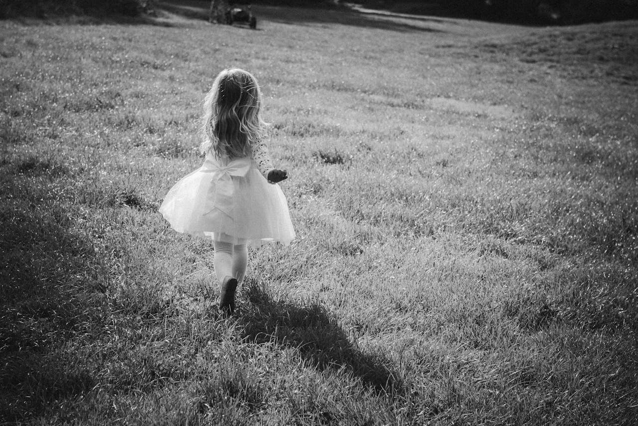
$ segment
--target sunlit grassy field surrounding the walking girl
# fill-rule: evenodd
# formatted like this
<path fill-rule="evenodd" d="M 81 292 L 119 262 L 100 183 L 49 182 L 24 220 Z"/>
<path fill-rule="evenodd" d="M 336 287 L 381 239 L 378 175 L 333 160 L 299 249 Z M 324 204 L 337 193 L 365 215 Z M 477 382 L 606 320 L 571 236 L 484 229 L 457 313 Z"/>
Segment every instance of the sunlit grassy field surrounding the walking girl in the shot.
<path fill-rule="evenodd" d="M 0 22 L 0 423 L 635 424 L 638 22 L 182 4 Z M 157 209 L 228 66 L 298 239 L 225 319 Z"/>

